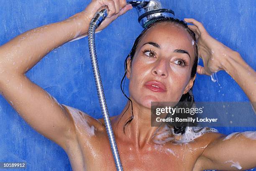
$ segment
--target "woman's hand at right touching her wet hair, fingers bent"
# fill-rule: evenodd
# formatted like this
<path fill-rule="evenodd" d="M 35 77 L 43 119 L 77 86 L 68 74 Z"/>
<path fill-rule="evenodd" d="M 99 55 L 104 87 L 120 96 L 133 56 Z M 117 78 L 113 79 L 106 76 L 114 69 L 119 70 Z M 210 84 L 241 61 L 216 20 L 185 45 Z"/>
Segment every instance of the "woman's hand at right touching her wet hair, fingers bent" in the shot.
<path fill-rule="evenodd" d="M 197 66 L 197 73 L 211 75 L 224 70 L 223 60 L 233 50 L 212 38 L 199 21 L 193 18 L 184 18 L 184 20 L 187 23 L 194 24 L 188 25 L 188 27 L 196 34 L 198 55 L 204 63 L 204 66 Z"/>

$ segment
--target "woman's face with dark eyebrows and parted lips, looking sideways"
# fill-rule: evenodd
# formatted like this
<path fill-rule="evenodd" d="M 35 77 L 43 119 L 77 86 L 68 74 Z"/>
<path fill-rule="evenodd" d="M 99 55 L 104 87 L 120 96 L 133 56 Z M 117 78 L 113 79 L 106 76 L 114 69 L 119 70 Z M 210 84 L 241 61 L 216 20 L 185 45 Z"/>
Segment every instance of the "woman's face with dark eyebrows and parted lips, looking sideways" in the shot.
<path fill-rule="evenodd" d="M 138 44 L 131 67 L 128 59 L 130 97 L 147 108 L 151 108 L 151 102 L 178 102 L 195 79 L 190 79 L 193 44 L 184 28 L 171 23 L 149 28 Z"/>

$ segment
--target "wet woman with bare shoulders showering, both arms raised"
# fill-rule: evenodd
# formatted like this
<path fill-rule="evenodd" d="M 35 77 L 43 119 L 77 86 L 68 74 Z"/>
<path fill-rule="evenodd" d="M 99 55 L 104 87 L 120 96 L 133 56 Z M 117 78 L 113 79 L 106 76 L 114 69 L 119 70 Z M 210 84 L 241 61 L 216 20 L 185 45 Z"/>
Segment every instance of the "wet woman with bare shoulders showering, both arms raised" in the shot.
<path fill-rule="evenodd" d="M 1 94 L 28 124 L 66 151 L 74 171 L 115 170 L 104 121 L 59 104 L 25 74 L 49 51 L 85 36 L 94 13 L 103 5 L 109 8 L 109 17 L 97 31 L 132 8 L 125 0 L 93 0 L 84 11 L 68 20 L 33 29 L 0 47 Z M 134 171 L 254 168 L 255 132 L 226 137 L 205 130 L 211 133 L 182 143 L 179 140 L 184 132 L 175 134 L 166 126 L 150 126 L 151 101 L 179 101 L 192 88 L 195 69 L 207 75 L 227 71 L 249 100 L 256 101 L 252 93 L 256 91 L 255 71 L 237 52 L 210 37 L 201 23 L 194 19 L 185 21 L 194 24 L 189 28 L 196 34 L 198 52 L 195 36 L 184 23 L 163 21 L 138 38 L 127 58 L 126 77 L 130 79 L 129 99 L 133 105 L 127 103 L 120 115 L 111 118 L 123 168 Z M 38 43 L 41 46 L 35 47 Z M 197 53 L 204 67 L 197 66 Z M 248 72 L 251 73 L 248 77 L 242 77 Z M 125 133 L 118 125 L 125 125 Z"/>

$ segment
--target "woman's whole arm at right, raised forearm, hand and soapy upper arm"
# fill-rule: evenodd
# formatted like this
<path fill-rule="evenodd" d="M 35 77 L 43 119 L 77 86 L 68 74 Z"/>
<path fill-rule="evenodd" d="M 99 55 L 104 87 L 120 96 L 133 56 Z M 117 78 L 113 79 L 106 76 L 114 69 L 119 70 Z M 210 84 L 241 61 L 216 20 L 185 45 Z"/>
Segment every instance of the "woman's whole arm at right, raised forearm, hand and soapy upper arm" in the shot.
<path fill-rule="evenodd" d="M 212 38 L 202 23 L 192 18 L 185 19 L 195 32 L 199 56 L 204 66 L 198 66 L 199 74 L 210 75 L 225 70 L 243 89 L 256 109 L 256 72 L 242 59 L 240 54 Z M 210 135 L 208 135 L 210 136 Z M 204 170 L 247 170 L 256 167 L 256 131 L 232 133 L 212 141 L 200 158 Z"/>

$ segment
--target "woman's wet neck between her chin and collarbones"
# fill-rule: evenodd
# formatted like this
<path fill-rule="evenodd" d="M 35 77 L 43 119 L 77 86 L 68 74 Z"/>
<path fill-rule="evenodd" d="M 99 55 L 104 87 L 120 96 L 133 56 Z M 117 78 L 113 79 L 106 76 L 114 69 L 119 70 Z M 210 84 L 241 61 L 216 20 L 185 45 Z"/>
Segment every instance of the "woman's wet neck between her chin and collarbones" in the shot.
<path fill-rule="evenodd" d="M 125 125 L 129 118 L 132 117 L 132 107 L 131 102 L 129 105 L 129 101 L 126 103 L 121 114 L 111 120 L 115 136 L 119 140 L 128 141 L 138 148 L 143 148 L 146 144 L 163 143 L 163 139 L 172 137 L 172 133 L 166 125 L 151 127 L 151 109 L 138 105 L 131 97 L 130 99 L 133 102 L 132 121 Z"/>

